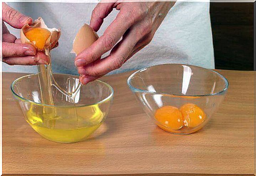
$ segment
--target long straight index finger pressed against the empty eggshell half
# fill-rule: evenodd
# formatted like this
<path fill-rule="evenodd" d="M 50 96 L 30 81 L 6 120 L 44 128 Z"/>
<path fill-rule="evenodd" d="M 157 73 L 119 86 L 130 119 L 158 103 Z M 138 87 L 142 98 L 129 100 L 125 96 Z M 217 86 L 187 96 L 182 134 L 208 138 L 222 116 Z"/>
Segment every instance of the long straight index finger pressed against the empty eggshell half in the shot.
<path fill-rule="evenodd" d="M 107 51 L 111 50 L 111 48 L 116 45 L 118 40 L 134 23 L 135 19 L 127 15 L 125 11 L 119 12 L 116 19 L 108 26 L 104 34 L 99 37 L 98 40 L 96 40 L 96 42 L 94 42 L 89 48 L 76 56 L 76 66 L 85 66 L 101 57 Z"/>

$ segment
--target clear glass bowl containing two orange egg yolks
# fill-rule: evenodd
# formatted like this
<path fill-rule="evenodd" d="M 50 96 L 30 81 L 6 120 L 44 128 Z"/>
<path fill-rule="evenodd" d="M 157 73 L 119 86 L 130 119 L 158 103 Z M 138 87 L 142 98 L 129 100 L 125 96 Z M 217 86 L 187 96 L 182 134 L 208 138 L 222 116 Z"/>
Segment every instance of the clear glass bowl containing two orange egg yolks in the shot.
<path fill-rule="evenodd" d="M 173 134 L 191 134 L 203 128 L 229 87 L 220 73 L 187 64 L 143 68 L 133 73 L 127 84 L 154 123 Z"/>

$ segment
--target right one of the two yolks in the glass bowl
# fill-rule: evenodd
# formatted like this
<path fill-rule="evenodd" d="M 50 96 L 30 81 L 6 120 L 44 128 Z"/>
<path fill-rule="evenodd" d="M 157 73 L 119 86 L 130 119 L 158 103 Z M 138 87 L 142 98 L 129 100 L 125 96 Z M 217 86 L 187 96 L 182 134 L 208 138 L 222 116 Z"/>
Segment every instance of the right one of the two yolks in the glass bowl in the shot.
<path fill-rule="evenodd" d="M 180 108 L 180 112 L 183 115 L 184 126 L 189 128 L 196 127 L 205 120 L 204 111 L 195 104 L 184 104 Z"/>

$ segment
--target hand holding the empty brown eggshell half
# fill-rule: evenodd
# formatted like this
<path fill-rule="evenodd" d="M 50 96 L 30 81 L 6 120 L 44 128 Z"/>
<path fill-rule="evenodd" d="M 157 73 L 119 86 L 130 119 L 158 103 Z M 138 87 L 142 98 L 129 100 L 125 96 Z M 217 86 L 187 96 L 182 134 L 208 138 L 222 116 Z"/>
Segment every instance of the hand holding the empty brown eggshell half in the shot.
<path fill-rule="evenodd" d="M 104 34 L 75 58 L 80 82 L 87 84 L 114 69 L 149 44 L 175 2 L 99 3 L 92 12 L 90 26 L 98 31 L 113 8 L 120 10 Z M 122 37 L 122 40 L 119 39 Z M 119 42 L 118 42 L 119 41 Z M 118 42 L 118 43 L 117 43 Z M 112 49 L 112 50 L 111 50 Z M 101 58 L 107 51 L 109 56 Z"/>

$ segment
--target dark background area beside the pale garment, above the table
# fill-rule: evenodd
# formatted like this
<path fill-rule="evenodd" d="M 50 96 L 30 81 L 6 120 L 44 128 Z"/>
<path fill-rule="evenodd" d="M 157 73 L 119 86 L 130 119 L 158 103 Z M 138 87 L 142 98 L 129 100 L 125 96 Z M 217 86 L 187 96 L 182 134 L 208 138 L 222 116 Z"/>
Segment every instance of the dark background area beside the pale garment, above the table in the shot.
<path fill-rule="evenodd" d="M 210 2 L 216 69 L 254 70 L 254 3 Z"/>

